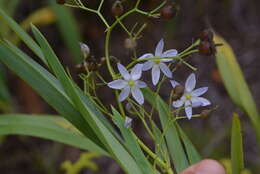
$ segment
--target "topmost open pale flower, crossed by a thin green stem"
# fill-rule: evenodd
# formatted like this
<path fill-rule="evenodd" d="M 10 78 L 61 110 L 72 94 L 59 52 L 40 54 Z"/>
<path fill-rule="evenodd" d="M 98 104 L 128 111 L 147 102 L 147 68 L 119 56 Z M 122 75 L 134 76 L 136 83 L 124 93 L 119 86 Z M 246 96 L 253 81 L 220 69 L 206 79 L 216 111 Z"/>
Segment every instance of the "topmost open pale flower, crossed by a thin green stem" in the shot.
<path fill-rule="evenodd" d="M 169 78 L 172 78 L 172 72 L 164 62 L 170 62 L 173 59 L 158 59 L 159 57 L 175 57 L 178 52 L 175 49 L 170 49 L 163 52 L 164 41 L 161 39 L 155 48 L 155 54 L 146 53 L 139 59 L 154 58 L 155 60 L 148 60 L 144 63 L 143 71 L 152 69 L 152 82 L 156 85 L 160 79 L 160 71 Z"/>

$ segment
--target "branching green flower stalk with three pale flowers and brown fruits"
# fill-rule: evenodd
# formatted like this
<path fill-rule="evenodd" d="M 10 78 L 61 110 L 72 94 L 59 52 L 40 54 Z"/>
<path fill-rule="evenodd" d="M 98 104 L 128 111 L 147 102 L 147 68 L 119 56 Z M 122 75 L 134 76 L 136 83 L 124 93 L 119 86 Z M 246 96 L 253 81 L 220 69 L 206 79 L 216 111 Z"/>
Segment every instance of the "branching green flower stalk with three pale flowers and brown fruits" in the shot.
<path fill-rule="evenodd" d="M 104 50 L 105 62 L 108 71 L 112 77 L 112 81 L 107 83 L 106 80 L 104 80 L 103 77 L 99 74 L 99 72 L 94 72 L 92 71 L 93 69 L 91 69 L 89 66 L 86 66 L 86 73 L 81 74 L 81 77 L 84 80 L 85 84 L 84 91 L 86 95 L 92 96 L 92 98 L 97 103 L 97 107 L 113 119 L 113 114 L 111 114 L 109 109 L 107 109 L 106 106 L 99 100 L 95 92 L 96 85 L 99 85 L 99 83 L 96 83 L 95 79 L 93 78 L 93 75 L 95 75 L 99 78 L 99 80 L 101 80 L 101 85 L 107 85 L 108 87 L 116 90 L 115 96 L 120 113 L 125 119 L 125 128 L 131 129 L 132 119 L 126 116 L 126 113 L 128 112 L 129 114 L 138 116 L 138 118 L 140 118 L 151 138 L 155 140 L 155 132 L 158 129 L 158 126 L 153 120 L 154 106 L 152 106 L 152 109 L 150 111 L 147 111 L 143 106 L 143 104 L 145 103 L 145 97 L 143 95 L 142 89 L 149 87 L 147 85 L 148 83 L 140 80 L 142 77 L 142 71 L 147 71 L 151 69 L 152 84 L 156 86 L 156 91 L 153 93 L 154 95 L 158 95 L 160 93 L 162 83 L 165 82 L 167 78 L 170 79 L 168 82 L 171 83 L 173 90 L 169 94 L 169 105 L 172 105 L 173 107 L 171 106 L 172 118 L 169 118 L 168 124 L 173 124 L 176 120 L 185 118 L 183 116 L 179 116 L 181 110 L 185 111 L 188 119 L 191 119 L 192 117 L 199 117 L 200 114 L 192 115 L 192 108 L 208 106 L 211 103 L 207 99 L 200 97 L 202 94 L 207 92 L 208 87 L 194 89 L 196 84 L 194 73 L 191 73 L 190 76 L 187 78 L 185 87 L 182 87 L 178 82 L 173 80 L 175 78 L 173 73 L 178 69 L 179 65 L 185 65 L 189 67 L 192 71 L 196 71 L 196 68 L 190 65 L 186 61 L 186 58 L 194 53 L 198 53 L 201 50 L 200 40 L 194 42 L 184 51 L 178 53 L 176 49 L 169 49 L 164 51 L 164 40 L 161 39 L 158 42 L 154 53 L 145 53 L 141 56 L 137 56 L 138 53 L 136 53 L 135 51 L 135 47 L 137 46 L 136 41 L 140 38 L 140 35 L 144 31 L 147 24 L 141 25 L 139 29 L 137 29 L 137 25 L 134 25 L 132 29 L 128 29 L 124 25 L 123 20 L 134 13 L 144 15 L 149 18 L 170 18 L 175 16 L 177 11 L 175 6 L 171 4 L 168 5 L 168 7 L 165 6 L 167 3 L 166 1 L 162 1 L 161 4 L 159 4 L 151 11 L 143 11 L 140 9 L 140 2 L 141 0 L 137 0 L 132 9 L 124 12 L 122 4 L 123 2 L 119 0 L 115 1 L 114 5 L 112 6 L 112 13 L 115 15 L 115 21 L 112 24 L 108 23 L 101 12 L 104 0 L 100 1 L 97 9 L 88 8 L 87 5 L 85 5 L 81 0 L 74 0 L 68 3 L 64 1 L 62 3 L 64 3 L 64 5 L 67 7 L 79 8 L 87 12 L 96 14 L 106 27 Z M 109 51 L 111 32 L 116 26 L 120 26 L 126 32 L 129 37 L 126 40 L 127 48 L 133 49 L 133 57 L 130 59 L 131 62 L 126 66 L 122 65 L 121 63 L 117 63 L 118 71 L 115 71 L 113 69 L 114 66 L 112 65 L 114 61 L 112 60 L 115 58 L 110 54 Z M 200 50 L 197 49 L 199 45 Z M 86 58 L 86 61 L 90 61 L 91 58 L 89 56 L 88 46 L 83 43 L 80 43 L 80 46 L 83 55 Z M 205 52 L 205 49 L 203 49 L 203 51 Z M 160 78 L 161 72 L 163 74 L 162 78 Z M 121 90 L 120 94 L 118 93 L 118 90 Z M 132 96 L 134 100 L 132 100 L 130 96 Z M 122 101 L 124 100 L 127 100 L 126 107 L 124 107 L 124 105 L 122 104 Z M 162 131 L 162 136 L 165 135 L 165 132 L 167 132 L 167 130 Z M 163 171 L 167 173 L 173 173 L 167 155 L 164 154 L 165 152 L 163 152 L 163 150 L 160 148 L 161 143 L 157 142 L 156 145 L 156 147 L 159 147 L 159 151 L 162 151 L 163 154 L 162 157 L 159 157 L 157 156 L 157 154 L 152 152 L 137 136 L 136 140 L 142 147 L 142 149 L 148 154 L 148 156 L 154 160 L 154 166 L 158 165 Z"/>

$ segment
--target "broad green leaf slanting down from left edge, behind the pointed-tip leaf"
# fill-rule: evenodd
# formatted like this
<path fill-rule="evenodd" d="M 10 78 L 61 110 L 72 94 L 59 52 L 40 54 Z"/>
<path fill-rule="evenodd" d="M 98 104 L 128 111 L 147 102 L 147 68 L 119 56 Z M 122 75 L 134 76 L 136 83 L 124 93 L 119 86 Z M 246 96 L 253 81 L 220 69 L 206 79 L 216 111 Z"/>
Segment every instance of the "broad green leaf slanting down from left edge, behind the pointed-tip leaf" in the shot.
<path fill-rule="evenodd" d="M 71 100 L 52 74 L 11 43 L 8 43 L 8 45 L 3 42 L 0 43 L 0 61 L 30 84 L 60 115 L 70 121 L 88 138 L 102 146 L 95 132 L 72 105 Z"/>

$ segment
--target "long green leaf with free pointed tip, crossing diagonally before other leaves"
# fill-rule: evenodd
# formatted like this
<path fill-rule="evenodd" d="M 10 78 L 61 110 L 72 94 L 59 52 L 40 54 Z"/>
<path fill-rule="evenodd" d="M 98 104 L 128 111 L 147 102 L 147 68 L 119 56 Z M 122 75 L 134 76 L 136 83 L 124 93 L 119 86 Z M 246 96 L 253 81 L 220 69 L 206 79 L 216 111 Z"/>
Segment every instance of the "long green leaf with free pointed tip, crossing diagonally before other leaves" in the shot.
<path fill-rule="evenodd" d="M 32 26 L 32 31 L 41 46 L 42 52 L 48 64 L 54 71 L 54 74 L 61 82 L 65 92 L 73 101 L 75 107 L 82 114 L 83 118 L 90 124 L 91 129 L 95 130 L 95 133 L 98 135 L 98 139 L 102 141 L 114 159 L 127 173 L 142 173 L 135 160 L 126 151 L 125 147 L 118 141 L 117 137 L 110 132 L 110 130 L 100 121 L 100 119 L 97 118 L 97 115 L 93 112 L 93 110 L 81 99 L 80 92 L 77 90 L 78 88 L 66 74 L 66 71 L 62 67 L 44 36 L 35 26 Z"/>

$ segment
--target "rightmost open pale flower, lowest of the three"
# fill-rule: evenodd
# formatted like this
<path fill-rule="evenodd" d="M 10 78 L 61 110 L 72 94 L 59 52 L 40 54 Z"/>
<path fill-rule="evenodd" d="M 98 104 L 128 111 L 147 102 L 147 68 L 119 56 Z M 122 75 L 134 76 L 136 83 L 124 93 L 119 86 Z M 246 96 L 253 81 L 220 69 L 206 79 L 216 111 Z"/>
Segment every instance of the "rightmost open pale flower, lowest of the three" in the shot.
<path fill-rule="evenodd" d="M 173 88 L 175 88 L 177 85 L 179 85 L 178 82 L 173 81 L 173 80 L 171 80 L 171 84 L 172 84 Z M 186 112 L 188 119 L 191 119 L 191 117 L 192 117 L 192 108 L 200 107 L 200 106 L 207 106 L 207 105 L 211 104 L 209 100 L 207 100 L 203 97 L 200 97 L 202 94 L 207 92 L 208 87 L 198 88 L 198 89 L 194 90 L 195 85 L 196 85 L 195 74 L 191 73 L 186 80 L 183 96 L 179 100 L 174 101 L 172 103 L 172 105 L 175 108 L 179 108 L 182 105 L 184 105 L 185 112 Z"/>

